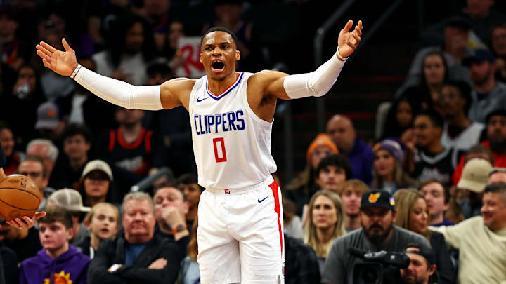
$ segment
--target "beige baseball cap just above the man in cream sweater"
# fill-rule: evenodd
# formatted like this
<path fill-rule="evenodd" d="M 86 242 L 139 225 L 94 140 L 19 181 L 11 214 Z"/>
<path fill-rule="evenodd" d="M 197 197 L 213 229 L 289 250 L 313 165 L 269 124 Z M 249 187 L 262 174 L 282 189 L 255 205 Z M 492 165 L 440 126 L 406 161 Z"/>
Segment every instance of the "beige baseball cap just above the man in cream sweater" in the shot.
<path fill-rule="evenodd" d="M 488 181 L 488 173 L 491 170 L 491 163 L 483 158 L 473 158 L 465 163 L 457 187 L 469 189 L 479 194 L 484 191 Z"/>

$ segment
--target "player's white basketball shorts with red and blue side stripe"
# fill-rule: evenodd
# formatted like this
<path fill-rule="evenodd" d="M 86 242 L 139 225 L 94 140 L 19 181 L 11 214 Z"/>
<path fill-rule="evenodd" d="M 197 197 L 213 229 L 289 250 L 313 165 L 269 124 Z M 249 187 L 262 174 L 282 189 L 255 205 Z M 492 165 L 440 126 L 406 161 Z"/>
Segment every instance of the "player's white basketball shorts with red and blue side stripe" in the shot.
<path fill-rule="evenodd" d="M 200 283 L 285 283 L 278 182 L 206 189 L 198 206 Z"/>

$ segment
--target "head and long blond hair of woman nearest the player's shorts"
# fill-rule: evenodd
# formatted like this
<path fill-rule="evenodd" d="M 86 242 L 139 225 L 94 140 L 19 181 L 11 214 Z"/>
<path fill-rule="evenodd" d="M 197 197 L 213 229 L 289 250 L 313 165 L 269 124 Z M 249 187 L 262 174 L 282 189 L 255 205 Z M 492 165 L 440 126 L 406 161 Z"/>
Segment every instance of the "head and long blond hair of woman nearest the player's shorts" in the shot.
<path fill-rule="evenodd" d="M 346 234 L 344 213 L 339 194 L 320 190 L 309 201 L 309 216 L 304 228 L 304 243 L 315 250 L 323 272 L 325 258 L 336 238 Z"/>

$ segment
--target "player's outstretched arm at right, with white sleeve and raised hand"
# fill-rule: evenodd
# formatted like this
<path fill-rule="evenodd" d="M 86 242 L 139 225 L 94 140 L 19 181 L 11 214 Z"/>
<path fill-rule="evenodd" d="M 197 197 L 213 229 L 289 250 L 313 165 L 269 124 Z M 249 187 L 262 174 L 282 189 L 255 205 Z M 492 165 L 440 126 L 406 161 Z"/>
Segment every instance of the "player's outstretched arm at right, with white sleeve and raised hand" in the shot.
<path fill-rule="evenodd" d="M 338 47 L 335 55 L 318 69 L 311 73 L 287 75 L 280 72 L 260 72 L 265 81 L 264 93 L 275 95 L 283 100 L 297 99 L 301 97 L 321 97 L 334 85 L 344 62 L 355 51 L 362 36 L 362 21 L 350 32 L 353 21 L 349 20 L 344 29 L 339 32 L 337 39 Z"/>

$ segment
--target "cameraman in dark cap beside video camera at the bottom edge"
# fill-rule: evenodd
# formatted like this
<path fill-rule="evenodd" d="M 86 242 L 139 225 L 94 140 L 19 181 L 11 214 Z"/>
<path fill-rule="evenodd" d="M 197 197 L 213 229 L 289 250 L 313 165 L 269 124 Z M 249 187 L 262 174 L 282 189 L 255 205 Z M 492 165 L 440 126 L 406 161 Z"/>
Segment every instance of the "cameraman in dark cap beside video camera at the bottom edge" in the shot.
<path fill-rule="evenodd" d="M 434 250 L 424 245 L 408 245 L 406 255 L 410 264 L 406 269 L 401 269 L 402 284 L 427 284 L 439 283 L 436 271 Z"/>

